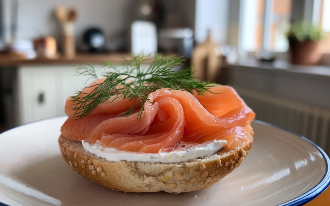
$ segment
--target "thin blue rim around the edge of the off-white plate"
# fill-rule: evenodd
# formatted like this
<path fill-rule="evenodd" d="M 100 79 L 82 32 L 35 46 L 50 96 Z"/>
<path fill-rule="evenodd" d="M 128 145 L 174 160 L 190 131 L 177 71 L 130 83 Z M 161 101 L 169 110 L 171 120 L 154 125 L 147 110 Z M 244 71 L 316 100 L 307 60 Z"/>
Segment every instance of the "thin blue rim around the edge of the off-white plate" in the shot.
<path fill-rule="evenodd" d="M 57 117 L 60 117 L 60 116 L 57 116 Z M 56 118 L 56 117 L 51 117 L 51 118 Z M 51 118 L 46 118 L 46 119 L 51 119 Z M 43 121 L 43 120 L 46 120 L 46 119 L 37 120 L 37 121 L 29 122 L 29 123 L 26 123 L 26 124 L 39 122 L 39 121 Z M 261 120 L 253 120 L 253 122 L 256 122 L 256 123 L 262 124 L 262 125 L 267 125 L 267 126 L 270 126 L 270 127 L 274 127 L 274 128 L 277 128 L 277 129 L 280 129 L 282 131 L 291 133 L 291 134 L 293 134 L 297 137 L 300 137 L 300 138 L 304 139 L 305 141 L 312 144 L 322 154 L 322 156 L 324 158 L 324 161 L 326 163 L 326 171 L 324 173 L 324 176 L 322 177 L 320 182 L 318 182 L 317 185 L 315 185 L 311 190 L 305 192 L 304 194 L 300 195 L 299 197 L 296 197 L 296 198 L 294 198 L 290 201 L 284 202 L 284 203 L 282 203 L 280 205 L 277 205 L 277 206 L 301 206 L 301 205 L 304 205 L 304 204 L 308 203 L 309 201 L 313 200 L 315 197 L 317 197 L 319 194 L 321 194 L 323 191 L 325 191 L 329 187 L 329 185 L 330 185 L 330 159 L 329 159 L 328 155 L 317 144 L 315 144 L 313 141 L 307 139 L 306 137 L 304 137 L 304 136 L 302 136 L 302 135 L 300 135 L 296 132 L 293 132 L 293 131 L 288 130 L 288 129 L 283 128 L 283 127 L 280 127 L 278 125 L 274 125 L 274 124 L 264 122 L 264 121 L 261 121 Z M 23 124 L 23 125 L 26 125 L 26 124 Z M 23 126 L 23 125 L 20 125 L 20 126 Z M 17 126 L 17 127 L 20 127 L 20 126 Z M 14 128 L 17 128 L 17 127 L 14 127 Z M 14 128 L 11 128 L 11 129 L 14 129 Z M 8 129 L 8 130 L 11 130 L 11 129 Z M 6 132 L 8 130 L 5 130 L 3 132 Z M 3 132 L 0 132 L 0 134 L 3 133 Z M 10 206 L 10 205 L 6 205 L 6 204 L 0 202 L 0 206 Z"/>

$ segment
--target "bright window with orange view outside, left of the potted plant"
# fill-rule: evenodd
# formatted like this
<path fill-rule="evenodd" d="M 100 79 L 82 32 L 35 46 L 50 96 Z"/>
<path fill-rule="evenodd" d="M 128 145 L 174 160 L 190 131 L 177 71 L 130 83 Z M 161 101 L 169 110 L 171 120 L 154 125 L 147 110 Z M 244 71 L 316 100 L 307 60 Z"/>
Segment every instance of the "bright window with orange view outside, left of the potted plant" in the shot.
<path fill-rule="evenodd" d="M 242 1 L 240 47 L 245 51 L 285 52 L 289 48 L 292 0 Z"/>

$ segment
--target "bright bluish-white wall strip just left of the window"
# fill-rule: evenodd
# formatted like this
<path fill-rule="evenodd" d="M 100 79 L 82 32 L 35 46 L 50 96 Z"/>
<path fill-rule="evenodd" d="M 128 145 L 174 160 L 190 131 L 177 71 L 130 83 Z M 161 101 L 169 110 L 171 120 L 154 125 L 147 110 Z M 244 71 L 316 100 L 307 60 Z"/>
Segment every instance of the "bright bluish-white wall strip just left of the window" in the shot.
<path fill-rule="evenodd" d="M 196 0 L 195 39 L 205 41 L 207 31 L 217 44 L 227 42 L 229 0 Z"/>

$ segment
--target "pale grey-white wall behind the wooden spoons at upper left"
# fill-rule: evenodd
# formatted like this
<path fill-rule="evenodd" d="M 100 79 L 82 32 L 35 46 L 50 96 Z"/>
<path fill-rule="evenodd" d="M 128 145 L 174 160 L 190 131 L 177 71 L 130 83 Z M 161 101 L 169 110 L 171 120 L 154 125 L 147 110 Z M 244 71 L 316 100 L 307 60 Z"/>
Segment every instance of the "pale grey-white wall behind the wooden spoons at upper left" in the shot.
<path fill-rule="evenodd" d="M 3 0 L 5 38 L 9 41 L 11 2 Z M 53 35 L 60 40 L 61 29 L 54 9 L 58 5 L 75 8 L 77 40 L 86 28 L 97 26 L 108 39 L 129 28 L 134 0 L 18 0 L 17 39 L 32 39 L 40 35 Z"/>

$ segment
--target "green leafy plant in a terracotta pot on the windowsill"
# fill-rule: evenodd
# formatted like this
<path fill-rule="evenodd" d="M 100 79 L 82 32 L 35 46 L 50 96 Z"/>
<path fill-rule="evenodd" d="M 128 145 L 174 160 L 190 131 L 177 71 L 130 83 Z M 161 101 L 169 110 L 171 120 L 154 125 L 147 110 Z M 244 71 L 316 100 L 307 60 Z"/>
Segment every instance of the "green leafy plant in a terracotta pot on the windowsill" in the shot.
<path fill-rule="evenodd" d="M 320 41 L 324 38 L 325 33 L 320 26 L 305 23 L 292 25 L 288 33 L 291 63 L 303 65 L 317 63 L 322 56 Z"/>

